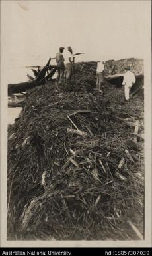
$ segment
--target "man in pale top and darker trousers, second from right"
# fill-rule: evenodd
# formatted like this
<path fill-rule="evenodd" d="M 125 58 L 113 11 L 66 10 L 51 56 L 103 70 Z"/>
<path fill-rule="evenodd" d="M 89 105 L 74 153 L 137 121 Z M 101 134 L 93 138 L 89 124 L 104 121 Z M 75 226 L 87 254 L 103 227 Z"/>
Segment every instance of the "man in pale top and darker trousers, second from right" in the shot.
<path fill-rule="evenodd" d="M 103 86 L 104 84 L 103 71 L 104 71 L 104 61 L 98 61 L 97 67 L 96 67 L 96 90 L 98 90 L 102 94 L 103 92 L 101 90 L 101 86 Z"/>

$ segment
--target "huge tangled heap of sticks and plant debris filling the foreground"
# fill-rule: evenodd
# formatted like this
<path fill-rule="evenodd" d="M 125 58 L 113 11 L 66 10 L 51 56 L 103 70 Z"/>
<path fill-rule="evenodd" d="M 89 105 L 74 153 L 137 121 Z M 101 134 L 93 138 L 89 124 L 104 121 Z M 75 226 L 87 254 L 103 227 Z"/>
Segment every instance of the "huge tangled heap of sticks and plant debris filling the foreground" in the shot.
<path fill-rule="evenodd" d="M 7 239 L 143 238 L 143 100 L 90 75 L 30 90 L 9 126 Z"/>

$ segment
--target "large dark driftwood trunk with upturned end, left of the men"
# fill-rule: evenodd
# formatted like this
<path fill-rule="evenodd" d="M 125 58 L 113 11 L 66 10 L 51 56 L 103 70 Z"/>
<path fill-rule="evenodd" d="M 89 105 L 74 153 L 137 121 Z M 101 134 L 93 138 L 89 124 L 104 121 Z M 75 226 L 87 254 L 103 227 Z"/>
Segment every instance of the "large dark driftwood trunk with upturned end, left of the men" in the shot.
<path fill-rule="evenodd" d="M 24 92 L 26 90 L 34 88 L 35 86 L 45 84 L 46 80 L 49 80 L 57 70 L 57 66 L 50 66 L 50 60 L 51 59 L 48 60 L 46 66 L 42 68 L 42 70 L 34 80 L 28 82 L 20 82 L 18 84 L 8 84 L 8 94 L 11 95 L 13 93 Z M 51 70 L 51 72 L 45 77 L 48 69 Z"/>

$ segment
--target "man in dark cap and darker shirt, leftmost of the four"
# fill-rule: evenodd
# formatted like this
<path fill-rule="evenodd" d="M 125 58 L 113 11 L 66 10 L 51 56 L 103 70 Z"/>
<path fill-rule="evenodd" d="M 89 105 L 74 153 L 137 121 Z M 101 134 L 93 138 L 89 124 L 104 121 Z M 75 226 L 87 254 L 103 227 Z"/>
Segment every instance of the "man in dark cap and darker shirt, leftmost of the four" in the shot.
<path fill-rule="evenodd" d="M 59 84 L 63 81 L 64 75 L 64 57 L 63 57 L 64 47 L 59 47 L 59 53 L 56 54 L 56 63 L 57 63 L 57 70 L 58 70 L 58 77 L 57 80 Z"/>

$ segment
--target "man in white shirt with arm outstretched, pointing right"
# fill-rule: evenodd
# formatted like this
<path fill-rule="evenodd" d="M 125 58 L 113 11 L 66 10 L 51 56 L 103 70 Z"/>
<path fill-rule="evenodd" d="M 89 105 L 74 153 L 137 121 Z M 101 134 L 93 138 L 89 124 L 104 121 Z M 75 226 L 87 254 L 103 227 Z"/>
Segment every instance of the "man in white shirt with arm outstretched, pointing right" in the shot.
<path fill-rule="evenodd" d="M 64 79 L 66 84 L 70 85 L 72 76 L 72 67 L 74 63 L 73 51 L 71 47 L 67 47 L 67 53 L 65 54 L 65 72 Z"/>

